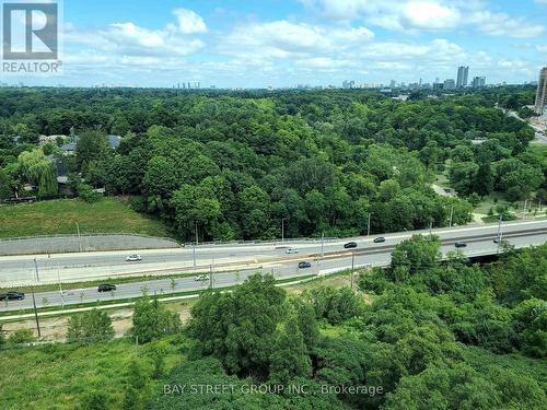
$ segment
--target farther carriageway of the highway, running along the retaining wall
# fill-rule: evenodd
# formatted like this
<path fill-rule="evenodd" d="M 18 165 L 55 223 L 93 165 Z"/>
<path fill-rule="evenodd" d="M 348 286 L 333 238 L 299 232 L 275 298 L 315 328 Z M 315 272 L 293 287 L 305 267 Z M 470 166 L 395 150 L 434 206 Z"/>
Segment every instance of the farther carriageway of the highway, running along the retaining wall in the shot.
<path fill-rule="evenodd" d="M 433 230 L 443 241 L 455 242 L 480 235 L 496 236 L 497 224 L 481 226 L 457 226 Z M 528 233 L 547 232 L 547 220 L 521 223 L 505 223 L 503 232 Z M 422 231 L 423 233 L 423 231 Z M 344 244 L 354 241 L 360 248 L 374 248 L 396 245 L 412 233 L 404 232 L 385 235 L 384 244 L 374 244 L 372 237 L 356 237 L 325 242 L 324 253 L 340 251 Z M 34 258 L 37 260 L 39 281 L 42 283 L 74 282 L 116 276 L 165 274 L 172 272 L 207 271 L 212 266 L 217 270 L 235 270 L 256 268 L 264 263 L 281 259 L 293 260 L 294 255 L 286 254 L 288 247 L 299 249 L 300 256 L 319 254 L 321 241 L 302 243 L 277 243 L 259 245 L 203 245 L 197 246 L 196 268 L 194 267 L 194 249 L 148 249 L 135 250 L 142 256 L 138 262 L 127 262 L 125 257 L 131 251 L 107 251 L 84 254 L 59 254 L 37 256 L 0 257 L 0 286 L 31 284 L 36 281 Z"/>

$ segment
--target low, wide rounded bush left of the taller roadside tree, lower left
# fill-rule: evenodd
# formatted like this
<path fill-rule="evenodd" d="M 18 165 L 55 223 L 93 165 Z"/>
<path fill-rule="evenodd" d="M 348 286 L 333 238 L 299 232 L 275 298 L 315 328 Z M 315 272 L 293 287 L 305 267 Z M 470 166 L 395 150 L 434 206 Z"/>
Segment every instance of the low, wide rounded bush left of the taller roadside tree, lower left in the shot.
<path fill-rule="evenodd" d="M 69 341 L 89 341 L 110 339 L 114 328 L 106 312 L 92 309 L 90 312 L 70 316 L 67 331 Z"/>

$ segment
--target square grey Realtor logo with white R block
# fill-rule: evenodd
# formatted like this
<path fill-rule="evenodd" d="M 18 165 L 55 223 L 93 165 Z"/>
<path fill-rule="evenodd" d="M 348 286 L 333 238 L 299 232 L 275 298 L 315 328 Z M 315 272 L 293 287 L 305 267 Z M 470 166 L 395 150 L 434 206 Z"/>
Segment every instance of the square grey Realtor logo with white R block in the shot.
<path fill-rule="evenodd" d="M 57 60 L 59 20 L 56 2 L 3 3 L 3 60 Z"/>

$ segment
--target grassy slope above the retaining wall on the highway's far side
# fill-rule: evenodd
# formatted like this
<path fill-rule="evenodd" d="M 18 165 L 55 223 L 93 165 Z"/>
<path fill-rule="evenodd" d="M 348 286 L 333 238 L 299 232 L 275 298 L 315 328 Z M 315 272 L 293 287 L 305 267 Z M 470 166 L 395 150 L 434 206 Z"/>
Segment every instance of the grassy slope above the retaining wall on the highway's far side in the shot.
<path fill-rule="evenodd" d="M 168 236 L 160 221 L 133 211 L 119 198 L 95 203 L 59 199 L 0 206 L 0 238 L 84 233 L 131 233 Z"/>

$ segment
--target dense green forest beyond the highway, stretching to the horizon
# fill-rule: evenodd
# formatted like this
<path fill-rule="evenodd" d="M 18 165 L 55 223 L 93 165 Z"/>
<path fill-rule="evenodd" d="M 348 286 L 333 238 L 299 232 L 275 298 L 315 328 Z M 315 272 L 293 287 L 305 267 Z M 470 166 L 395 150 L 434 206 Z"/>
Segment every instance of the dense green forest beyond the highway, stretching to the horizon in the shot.
<path fill-rule="evenodd" d="M 444 226 L 451 213 L 464 224 L 469 202 L 494 191 L 547 199 L 532 128 L 494 107 L 531 99 L 523 87 L 407 102 L 359 90 L 1 90 L 0 198 L 25 181 L 56 194 L 53 155 L 80 195 L 132 195 L 183 239 L 196 225 L 205 241 L 279 237 L 282 223 L 287 237 L 363 234 L 369 215 L 372 232 Z M 75 155 L 62 141 L 37 149 L 38 134 L 71 127 Z M 119 148 L 107 134 L 123 136 Z M 431 188 L 445 171 L 458 198 Z"/>

